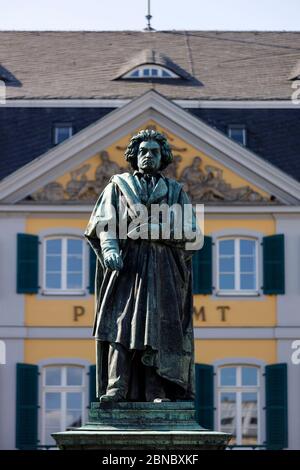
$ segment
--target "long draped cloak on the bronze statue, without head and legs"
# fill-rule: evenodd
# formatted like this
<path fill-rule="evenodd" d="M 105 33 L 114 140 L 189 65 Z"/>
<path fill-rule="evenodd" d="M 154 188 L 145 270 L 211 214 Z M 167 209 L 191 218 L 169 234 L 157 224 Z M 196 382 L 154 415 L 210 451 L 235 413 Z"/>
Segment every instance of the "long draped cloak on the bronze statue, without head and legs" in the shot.
<path fill-rule="evenodd" d="M 97 255 L 93 330 L 101 345 L 97 394 L 105 393 L 107 385 L 108 345 L 120 343 L 141 351 L 144 366 L 155 367 L 157 374 L 180 390 L 181 398 L 193 398 L 193 252 L 185 249 L 184 230 L 179 240 L 118 239 L 109 228 L 99 238 L 97 226 L 109 222 L 110 205 L 119 223 L 120 197 L 129 209 L 128 222 L 136 217 L 136 204 L 180 204 L 183 210 L 190 204 L 177 181 L 161 175 L 148 197 L 137 176 L 130 173 L 114 175 L 95 204 L 85 237 Z M 191 224 L 196 230 L 194 212 Z M 103 253 L 111 249 L 122 256 L 120 271 L 104 267 Z"/>

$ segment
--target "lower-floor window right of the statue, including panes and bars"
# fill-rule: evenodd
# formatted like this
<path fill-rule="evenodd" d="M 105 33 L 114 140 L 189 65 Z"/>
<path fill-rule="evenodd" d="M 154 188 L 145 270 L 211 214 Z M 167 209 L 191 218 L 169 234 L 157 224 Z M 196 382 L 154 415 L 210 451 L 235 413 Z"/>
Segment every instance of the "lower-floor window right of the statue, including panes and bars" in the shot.
<path fill-rule="evenodd" d="M 232 434 L 230 444 L 259 444 L 259 367 L 228 365 L 218 369 L 218 429 Z"/>

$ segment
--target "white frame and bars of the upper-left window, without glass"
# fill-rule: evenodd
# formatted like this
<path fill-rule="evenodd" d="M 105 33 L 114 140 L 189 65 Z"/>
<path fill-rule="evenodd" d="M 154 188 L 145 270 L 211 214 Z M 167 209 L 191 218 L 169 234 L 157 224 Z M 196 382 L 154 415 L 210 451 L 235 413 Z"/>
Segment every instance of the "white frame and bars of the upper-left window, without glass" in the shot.
<path fill-rule="evenodd" d="M 46 256 L 47 256 L 47 241 L 48 240 L 62 240 L 61 251 L 61 285 L 60 289 L 49 289 L 46 286 Z M 81 240 L 82 242 L 82 284 L 80 289 L 67 288 L 67 240 Z M 45 295 L 83 295 L 86 293 L 87 285 L 87 249 L 86 244 L 82 237 L 76 235 L 49 235 L 43 240 L 43 294 Z"/>

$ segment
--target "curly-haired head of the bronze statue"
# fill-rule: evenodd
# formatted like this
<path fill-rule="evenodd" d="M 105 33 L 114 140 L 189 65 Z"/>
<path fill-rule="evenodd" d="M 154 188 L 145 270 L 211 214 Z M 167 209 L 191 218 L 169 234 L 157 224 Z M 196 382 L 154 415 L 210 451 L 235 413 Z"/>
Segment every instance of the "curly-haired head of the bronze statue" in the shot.
<path fill-rule="evenodd" d="M 172 162 L 173 155 L 163 134 L 146 129 L 132 137 L 125 159 L 134 170 L 153 173 L 166 168 Z"/>

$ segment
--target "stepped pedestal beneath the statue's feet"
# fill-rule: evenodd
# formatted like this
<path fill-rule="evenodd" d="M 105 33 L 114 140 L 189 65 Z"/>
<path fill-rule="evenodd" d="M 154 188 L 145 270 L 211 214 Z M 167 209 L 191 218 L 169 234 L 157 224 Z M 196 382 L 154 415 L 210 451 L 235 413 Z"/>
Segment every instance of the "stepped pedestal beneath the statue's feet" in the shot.
<path fill-rule="evenodd" d="M 92 403 L 85 426 L 52 436 L 62 450 L 221 450 L 230 440 L 197 424 L 193 402 Z"/>

